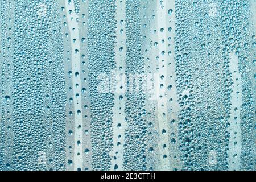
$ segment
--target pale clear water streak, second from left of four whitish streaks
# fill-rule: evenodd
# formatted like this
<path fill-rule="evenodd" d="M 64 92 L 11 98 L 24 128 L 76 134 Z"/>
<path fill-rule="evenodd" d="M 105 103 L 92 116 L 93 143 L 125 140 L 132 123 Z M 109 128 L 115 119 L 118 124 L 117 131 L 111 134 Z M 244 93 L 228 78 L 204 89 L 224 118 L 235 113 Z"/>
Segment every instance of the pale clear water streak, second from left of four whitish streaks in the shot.
<path fill-rule="evenodd" d="M 125 143 L 125 129 L 127 123 L 125 121 L 125 91 L 126 91 L 126 30 L 125 30 L 125 9 L 126 1 L 116 1 L 116 44 L 115 44 L 115 90 L 114 90 L 114 107 L 113 107 L 113 154 L 111 169 L 123 170 L 123 144 Z"/>

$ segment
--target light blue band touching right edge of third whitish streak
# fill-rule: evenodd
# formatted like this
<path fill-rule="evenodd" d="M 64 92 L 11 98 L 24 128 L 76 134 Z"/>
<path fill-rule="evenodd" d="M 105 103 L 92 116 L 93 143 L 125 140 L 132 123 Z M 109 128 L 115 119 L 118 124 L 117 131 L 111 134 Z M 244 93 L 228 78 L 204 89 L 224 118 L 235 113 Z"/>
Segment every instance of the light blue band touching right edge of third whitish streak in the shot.
<path fill-rule="evenodd" d="M 166 35 L 168 37 L 168 69 L 167 69 L 167 118 L 168 118 L 168 127 L 170 133 L 170 167 L 171 170 L 177 169 L 180 170 L 182 167 L 180 161 L 180 150 L 179 150 L 179 127 L 177 121 L 179 120 L 180 106 L 178 104 L 177 96 L 177 86 L 176 86 L 176 63 L 175 63 L 175 0 L 167 0 L 166 8 L 168 10 L 168 18 L 166 23 L 168 25 L 168 31 Z"/>

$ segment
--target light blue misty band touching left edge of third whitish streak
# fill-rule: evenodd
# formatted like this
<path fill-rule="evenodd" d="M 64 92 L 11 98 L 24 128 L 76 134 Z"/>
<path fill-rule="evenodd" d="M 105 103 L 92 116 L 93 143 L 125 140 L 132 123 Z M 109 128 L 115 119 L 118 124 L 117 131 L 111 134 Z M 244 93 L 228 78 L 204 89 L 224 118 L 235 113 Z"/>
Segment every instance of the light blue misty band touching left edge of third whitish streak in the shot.
<path fill-rule="evenodd" d="M 157 65 L 158 62 L 155 60 L 158 56 L 158 47 L 154 46 L 154 43 L 158 42 L 158 36 L 155 34 L 155 29 L 157 28 L 156 21 L 156 4 L 158 1 L 148 0 L 143 1 L 141 6 L 142 24 L 141 24 L 141 34 L 142 39 L 142 53 L 145 62 L 145 73 L 146 79 L 146 99 L 145 99 L 145 110 L 146 110 L 146 125 L 147 134 L 150 136 L 146 140 L 147 148 L 145 156 L 147 159 L 147 169 L 155 170 L 158 168 L 160 159 L 158 155 L 158 123 L 155 122 L 156 118 L 156 93 L 154 79 L 158 77 Z M 157 78 L 156 78 L 157 80 Z"/>

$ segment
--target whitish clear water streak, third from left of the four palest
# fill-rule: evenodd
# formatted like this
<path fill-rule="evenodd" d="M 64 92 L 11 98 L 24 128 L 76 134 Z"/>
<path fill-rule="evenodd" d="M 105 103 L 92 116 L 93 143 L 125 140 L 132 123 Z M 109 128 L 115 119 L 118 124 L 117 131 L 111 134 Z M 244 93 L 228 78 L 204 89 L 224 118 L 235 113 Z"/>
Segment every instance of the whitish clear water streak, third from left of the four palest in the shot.
<path fill-rule="evenodd" d="M 163 76 L 158 82 L 158 123 L 159 123 L 159 155 L 161 166 L 159 169 L 170 169 L 170 155 L 169 155 L 169 137 L 168 137 L 168 122 L 167 122 L 167 47 L 166 43 L 166 9 L 167 1 L 163 1 L 162 4 L 157 4 L 157 17 L 158 17 L 158 44 L 159 44 L 159 76 Z"/>

